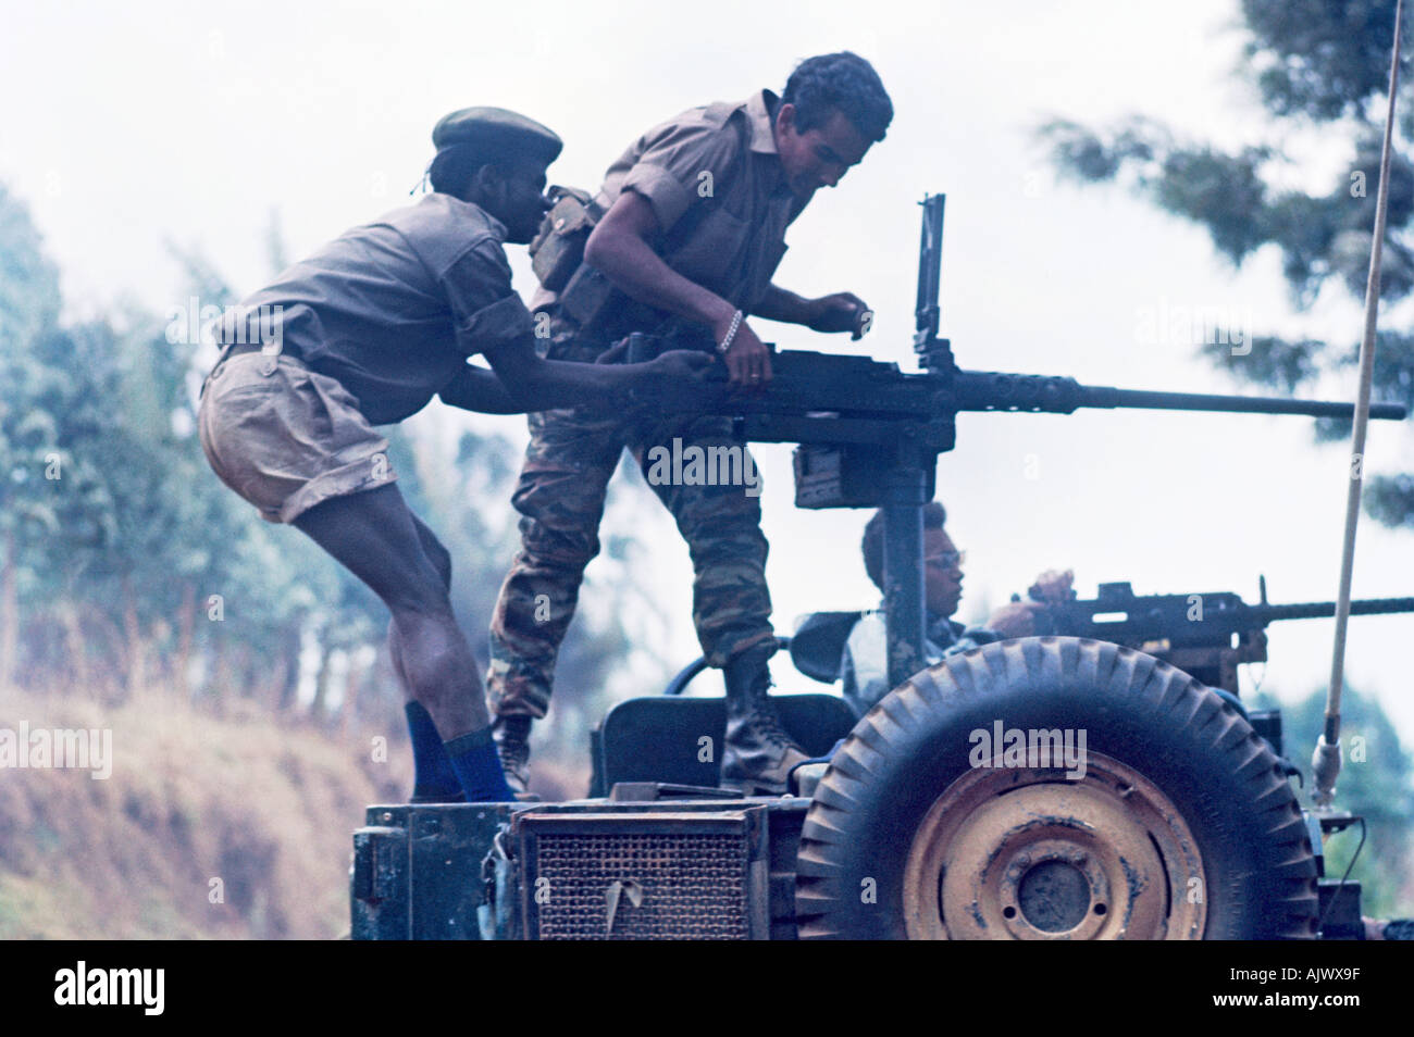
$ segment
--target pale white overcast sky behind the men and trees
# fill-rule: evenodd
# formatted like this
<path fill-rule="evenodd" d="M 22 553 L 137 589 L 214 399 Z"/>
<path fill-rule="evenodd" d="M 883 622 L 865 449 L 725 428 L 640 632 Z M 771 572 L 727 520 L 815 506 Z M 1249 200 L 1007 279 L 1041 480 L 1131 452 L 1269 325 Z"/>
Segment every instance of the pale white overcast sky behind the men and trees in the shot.
<path fill-rule="evenodd" d="M 792 227 L 776 280 L 806 295 L 857 292 L 877 312 L 874 331 L 855 346 L 761 322 L 764 338 L 867 349 L 915 369 L 915 202 L 943 191 L 942 325 L 962 366 L 1234 391 L 1191 342 L 1148 340 L 1145 321 L 1200 308 L 1256 333 L 1355 342 L 1359 307 L 1332 294 L 1294 315 L 1270 249 L 1233 271 L 1203 232 L 1120 189 L 1058 185 L 1031 137 L 1048 114 L 1103 124 L 1141 112 L 1223 144 L 1273 138 L 1227 78 L 1240 61 L 1234 20 L 1229 0 L 624 3 L 598 14 L 556 3 L 6 0 L 0 179 L 31 206 L 75 315 L 123 297 L 161 311 L 184 294 L 168 242 L 253 290 L 267 275 L 271 209 L 297 257 L 407 203 L 431 126 L 451 109 L 499 105 L 547 123 L 566 140 L 551 181 L 594 188 L 649 126 L 779 89 L 795 61 L 847 48 L 874 62 L 895 120 Z M 1319 136 L 1291 143 L 1342 157 Z M 529 297 L 523 250 L 510 254 Z M 1325 394 L 1353 398 L 1353 372 Z M 454 420 L 434 404 L 417 427 Z M 525 438 L 516 418 L 478 427 Z M 1407 466 L 1406 429 L 1372 425 L 1367 470 Z M 790 448 L 755 451 L 778 630 L 810 609 L 874 605 L 857 552 L 868 513 L 796 510 Z M 949 528 L 969 552 L 959 617 L 978 619 L 1052 567 L 1075 568 L 1085 596 L 1128 579 L 1141 593 L 1253 599 L 1266 574 L 1273 600 L 1333 598 L 1345 478 L 1343 448 L 1312 446 L 1301 418 L 963 415 L 959 448 L 939 465 Z M 508 502 L 485 507 L 512 517 Z M 619 513 L 605 531 L 650 541 L 669 651 L 686 661 L 691 572 L 672 523 Z M 1411 592 L 1414 538 L 1362 521 L 1355 593 Z M 1374 691 L 1414 743 L 1411 636 L 1414 616 L 1353 619 L 1348 678 Z M 1331 622 L 1274 626 L 1270 650 L 1263 687 L 1305 695 L 1328 678 Z M 785 689 L 820 687 L 785 668 L 778 678 Z M 1292 752 L 1305 760 L 1311 747 Z"/>

